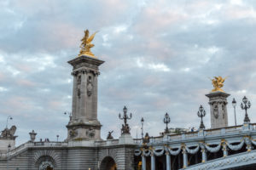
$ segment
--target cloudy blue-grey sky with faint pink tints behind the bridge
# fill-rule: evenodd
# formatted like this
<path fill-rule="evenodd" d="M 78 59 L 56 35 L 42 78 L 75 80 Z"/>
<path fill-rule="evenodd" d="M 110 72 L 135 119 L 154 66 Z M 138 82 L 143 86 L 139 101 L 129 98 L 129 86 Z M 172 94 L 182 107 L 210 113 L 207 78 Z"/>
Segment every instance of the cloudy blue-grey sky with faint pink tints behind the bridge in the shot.
<path fill-rule="evenodd" d="M 256 122 L 256 2 L 254 0 L 1 0 L 0 124 L 17 126 L 17 143 L 67 138 L 73 80 L 67 61 L 79 54 L 84 29 L 99 31 L 92 52 L 106 62 L 99 77 L 102 139 L 119 138 L 124 105 L 131 134 L 159 135 L 166 112 L 171 127 L 199 127 L 207 111 L 209 77 L 228 76 L 229 103 L 244 95 Z M 244 112 L 237 105 L 237 122 Z M 229 125 L 234 125 L 228 105 Z"/>

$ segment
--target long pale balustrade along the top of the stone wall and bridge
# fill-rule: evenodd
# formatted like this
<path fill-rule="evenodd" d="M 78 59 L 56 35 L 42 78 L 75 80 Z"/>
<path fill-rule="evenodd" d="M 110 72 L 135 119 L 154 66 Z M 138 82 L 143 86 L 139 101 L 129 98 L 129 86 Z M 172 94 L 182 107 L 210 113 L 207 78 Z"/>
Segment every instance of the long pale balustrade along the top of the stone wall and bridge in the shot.
<path fill-rule="evenodd" d="M 215 128 L 215 129 L 206 129 L 200 132 L 189 132 L 181 134 L 172 134 L 166 136 L 150 137 L 150 144 L 160 144 L 171 141 L 181 141 L 187 139 L 196 139 L 199 136 L 218 136 L 224 134 L 232 133 L 241 133 L 244 131 L 245 127 L 247 130 L 254 131 L 256 129 L 256 123 L 250 123 L 249 125 L 239 125 L 234 127 L 224 127 L 224 128 Z M 143 139 L 133 139 L 134 144 L 141 145 L 143 144 Z M 26 150 L 29 147 L 72 147 L 72 146 L 109 146 L 119 144 L 119 139 L 111 140 L 101 140 L 101 141 L 71 141 L 71 142 L 31 142 L 28 141 L 25 144 L 21 144 L 9 152 L 0 153 L 0 157 L 4 158 L 6 156 L 14 156 L 16 153 Z"/>

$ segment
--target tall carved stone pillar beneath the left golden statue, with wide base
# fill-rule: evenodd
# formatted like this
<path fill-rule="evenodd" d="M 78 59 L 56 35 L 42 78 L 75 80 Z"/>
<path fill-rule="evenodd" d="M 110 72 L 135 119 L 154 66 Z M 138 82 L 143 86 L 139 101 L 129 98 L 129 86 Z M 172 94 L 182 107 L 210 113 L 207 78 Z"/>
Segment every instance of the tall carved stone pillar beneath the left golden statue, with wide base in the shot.
<path fill-rule="evenodd" d="M 104 61 L 81 55 L 68 61 L 73 65 L 72 116 L 67 124 L 67 140 L 101 139 L 101 123 L 97 120 L 97 77 Z"/>

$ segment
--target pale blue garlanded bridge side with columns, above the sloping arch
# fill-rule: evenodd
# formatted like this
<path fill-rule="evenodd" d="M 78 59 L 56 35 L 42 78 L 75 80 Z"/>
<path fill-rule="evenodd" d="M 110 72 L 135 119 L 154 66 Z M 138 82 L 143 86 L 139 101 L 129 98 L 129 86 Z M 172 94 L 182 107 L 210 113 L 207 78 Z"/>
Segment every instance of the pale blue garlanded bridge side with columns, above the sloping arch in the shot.
<path fill-rule="evenodd" d="M 137 159 L 142 157 L 142 161 L 148 160 L 144 157 L 150 156 L 150 160 L 154 161 L 151 162 L 151 165 L 155 165 L 155 162 L 166 162 L 166 167 L 172 167 L 172 169 L 181 169 L 191 165 L 196 167 L 207 160 L 231 155 L 236 157 L 237 154 L 253 150 L 253 146 L 256 146 L 255 125 L 255 123 L 244 124 L 236 127 L 152 137 L 148 144 L 137 144 L 134 155 L 137 156 Z M 163 156 L 166 157 L 166 160 L 163 160 Z M 171 161 L 173 156 L 174 161 L 179 161 L 173 163 L 173 160 Z M 156 161 L 158 159 L 161 161 Z M 146 166 L 145 162 L 142 164 Z"/>

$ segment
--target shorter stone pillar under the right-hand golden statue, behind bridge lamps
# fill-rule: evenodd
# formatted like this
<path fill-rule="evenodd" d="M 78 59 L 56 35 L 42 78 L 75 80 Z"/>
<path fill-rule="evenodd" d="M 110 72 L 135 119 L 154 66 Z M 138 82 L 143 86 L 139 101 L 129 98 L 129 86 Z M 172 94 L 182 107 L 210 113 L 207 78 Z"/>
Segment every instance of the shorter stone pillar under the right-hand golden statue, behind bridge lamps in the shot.
<path fill-rule="evenodd" d="M 209 98 L 210 113 L 211 113 L 211 128 L 227 127 L 228 113 L 227 113 L 227 98 L 230 94 L 224 92 L 212 92 L 206 94 Z"/>

